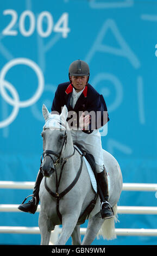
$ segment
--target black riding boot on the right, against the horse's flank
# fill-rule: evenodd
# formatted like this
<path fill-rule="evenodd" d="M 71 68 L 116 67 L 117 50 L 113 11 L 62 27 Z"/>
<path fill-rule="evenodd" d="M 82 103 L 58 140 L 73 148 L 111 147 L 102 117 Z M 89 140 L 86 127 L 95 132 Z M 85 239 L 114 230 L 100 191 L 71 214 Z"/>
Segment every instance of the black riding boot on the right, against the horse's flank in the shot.
<path fill-rule="evenodd" d="M 108 190 L 108 178 L 106 170 L 104 168 L 103 172 L 97 173 L 98 182 L 98 192 L 101 198 L 101 215 L 103 219 L 114 217 L 114 211 L 109 204 L 109 190 Z"/>

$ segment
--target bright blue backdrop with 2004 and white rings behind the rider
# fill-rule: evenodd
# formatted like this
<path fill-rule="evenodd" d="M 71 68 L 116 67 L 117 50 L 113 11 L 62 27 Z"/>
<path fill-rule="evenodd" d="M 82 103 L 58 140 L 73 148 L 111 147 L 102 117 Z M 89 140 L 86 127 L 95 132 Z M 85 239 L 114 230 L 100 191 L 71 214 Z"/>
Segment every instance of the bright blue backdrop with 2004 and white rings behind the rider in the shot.
<path fill-rule="evenodd" d="M 82 59 L 108 106 L 102 143 L 120 163 L 123 182 L 157 183 L 157 1 L 6 0 L 0 10 L 0 180 L 35 181 L 42 104 L 51 110 L 56 87 L 68 81 L 69 65 Z M 32 191 L 0 193 L 1 204 L 20 204 Z M 119 205 L 156 206 L 156 198 L 155 192 L 123 191 Z M 0 216 L 0 225 L 34 227 L 39 214 Z M 155 215 L 119 215 L 119 221 L 116 228 L 157 228 Z M 93 245 L 156 241 L 118 236 Z M 0 244 L 39 243 L 40 235 L 0 234 Z"/>

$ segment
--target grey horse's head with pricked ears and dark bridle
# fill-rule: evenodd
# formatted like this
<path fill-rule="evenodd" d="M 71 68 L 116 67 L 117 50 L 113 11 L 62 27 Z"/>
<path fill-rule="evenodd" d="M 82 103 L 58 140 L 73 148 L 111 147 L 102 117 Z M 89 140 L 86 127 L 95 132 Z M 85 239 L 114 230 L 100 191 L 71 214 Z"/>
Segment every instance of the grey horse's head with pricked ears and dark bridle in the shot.
<path fill-rule="evenodd" d="M 44 176 L 51 176 L 56 164 L 60 161 L 62 150 L 66 144 L 67 113 L 66 106 L 62 108 L 61 114 L 51 114 L 45 105 L 42 106 L 45 125 L 41 133 L 43 138 L 41 168 Z"/>

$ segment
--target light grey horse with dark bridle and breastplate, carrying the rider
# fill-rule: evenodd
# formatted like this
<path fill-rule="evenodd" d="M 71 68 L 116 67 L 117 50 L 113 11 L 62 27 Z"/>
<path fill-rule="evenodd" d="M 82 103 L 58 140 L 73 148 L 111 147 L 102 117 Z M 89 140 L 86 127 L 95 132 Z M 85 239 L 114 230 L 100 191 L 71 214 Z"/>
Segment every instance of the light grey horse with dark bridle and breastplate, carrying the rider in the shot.
<path fill-rule="evenodd" d="M 60 115 L 50 114 L 42 107 L 43 126 L 43 178 L 40 185 L 39 228 L 41 245 L 48 245 L 55 225 L 62 224 L 56 245 L 65 245 L 72 236 L 72 245 L 91 245 L 101 229 L 104 239 L 114 239 L 117 202 L 122 191 L 122 174 L 116 159 L 104 150 L 104 163 L 109 174 L 109 203 L 115 217 L 101 218 L 101 202 L 91 185 L 90 176 L 80 153 L 75 150 L 71 131 L 66 122 L 67 108 Z M 87 206 L 91 202 L 92 208 Z M 89 209 L 85 214 L 85 210 Z M 81 242 L 80 224 L 89 219 L 86 234 Z"/>

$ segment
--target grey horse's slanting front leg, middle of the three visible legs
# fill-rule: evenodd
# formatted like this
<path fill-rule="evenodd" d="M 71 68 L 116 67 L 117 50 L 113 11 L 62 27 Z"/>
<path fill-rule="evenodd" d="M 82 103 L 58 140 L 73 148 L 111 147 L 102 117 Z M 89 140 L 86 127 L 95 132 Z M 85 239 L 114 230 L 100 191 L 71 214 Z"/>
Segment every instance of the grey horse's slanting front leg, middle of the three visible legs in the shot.
<path fill-rule="evenodd" d="M 78 214 L 66 214 L 62 216 L 62 229 L 58 241 L 55 245 L 65 245 L 73 233 L 78 221 Z"/>

